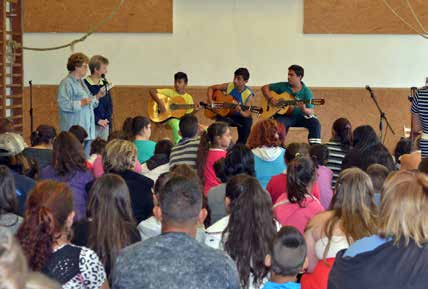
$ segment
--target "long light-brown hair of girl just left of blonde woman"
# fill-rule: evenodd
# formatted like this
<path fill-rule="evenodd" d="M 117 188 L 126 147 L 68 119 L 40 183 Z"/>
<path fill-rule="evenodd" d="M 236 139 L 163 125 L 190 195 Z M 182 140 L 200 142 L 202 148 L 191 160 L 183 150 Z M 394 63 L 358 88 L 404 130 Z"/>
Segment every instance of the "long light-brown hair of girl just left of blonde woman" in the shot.
<path fill-rule="evenodd" d="M 333 217 L 324 227 L 329 239 L 339 222 L 350 243 L 374 234 L 377 208 L 373 194 L 370 177 L 361 169 L 350 168 L 340 173 L 331 204 Z"/>

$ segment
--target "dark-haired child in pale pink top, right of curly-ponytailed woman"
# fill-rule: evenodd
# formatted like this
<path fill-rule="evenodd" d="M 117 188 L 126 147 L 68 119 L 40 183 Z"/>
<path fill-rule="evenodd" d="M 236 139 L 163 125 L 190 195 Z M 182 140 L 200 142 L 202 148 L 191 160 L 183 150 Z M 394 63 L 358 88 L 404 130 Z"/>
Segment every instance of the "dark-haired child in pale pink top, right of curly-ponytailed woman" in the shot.
<path fill-rule="evenodd" d="M 333 172 L 326 167 L 328 161 L 328 148 L 322 144 L 314 144 L 311 146 L 310 154 L 312 161 L 316 166 L 317 183 L 320 188 L 320 202 L 324 209 L 330 207 L 333 190 L 331 187 L 333 180 Z"/>

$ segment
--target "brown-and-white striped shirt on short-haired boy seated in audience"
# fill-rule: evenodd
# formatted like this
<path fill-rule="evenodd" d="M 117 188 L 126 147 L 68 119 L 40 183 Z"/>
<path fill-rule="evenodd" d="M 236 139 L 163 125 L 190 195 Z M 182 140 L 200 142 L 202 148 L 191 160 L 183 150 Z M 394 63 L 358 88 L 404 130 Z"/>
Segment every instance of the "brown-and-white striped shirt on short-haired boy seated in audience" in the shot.
<path fill-rule="evenodd" d="M 200 140 L 200 137 L 196 137 L 174 146 L 171 150 L 169 166 L 187 164 L 196 169 L 196 158 Z"/>

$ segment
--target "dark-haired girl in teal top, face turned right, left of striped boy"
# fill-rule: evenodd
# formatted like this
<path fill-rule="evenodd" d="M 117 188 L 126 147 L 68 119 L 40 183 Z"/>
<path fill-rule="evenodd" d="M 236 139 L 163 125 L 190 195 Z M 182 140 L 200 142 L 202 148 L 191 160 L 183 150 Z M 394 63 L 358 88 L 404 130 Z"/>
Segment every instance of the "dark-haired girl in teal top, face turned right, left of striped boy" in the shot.
<path fill-rule="evenodd" d="M 156 143 L 150 140 L 152 134 L 150 120 L 144 116 L 128 118 L 125 120 L 124 130 L 137 147 L 138 160 L 144 164 L 154 155 L 156 146 Z"/>

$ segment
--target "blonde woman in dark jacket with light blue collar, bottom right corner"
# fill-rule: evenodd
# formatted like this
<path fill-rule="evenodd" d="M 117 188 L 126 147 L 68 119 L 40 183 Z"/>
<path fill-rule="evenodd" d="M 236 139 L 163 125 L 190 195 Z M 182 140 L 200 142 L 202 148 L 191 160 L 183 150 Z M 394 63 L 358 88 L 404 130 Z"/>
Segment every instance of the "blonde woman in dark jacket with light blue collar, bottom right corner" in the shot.
<path fill-rule="evenodd" d="M 425 288 L 427 191 L 428 178 L 421 173 L 399 171 L 388 178 L 376 233 L 337 254 L 328 288 Z"/>

